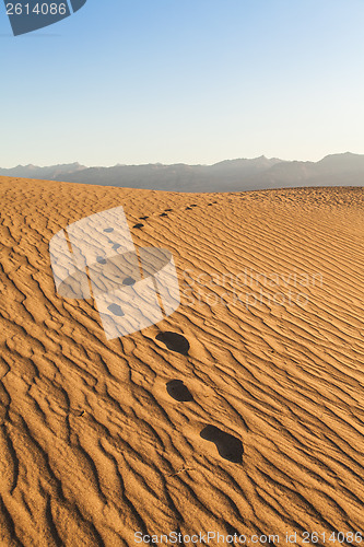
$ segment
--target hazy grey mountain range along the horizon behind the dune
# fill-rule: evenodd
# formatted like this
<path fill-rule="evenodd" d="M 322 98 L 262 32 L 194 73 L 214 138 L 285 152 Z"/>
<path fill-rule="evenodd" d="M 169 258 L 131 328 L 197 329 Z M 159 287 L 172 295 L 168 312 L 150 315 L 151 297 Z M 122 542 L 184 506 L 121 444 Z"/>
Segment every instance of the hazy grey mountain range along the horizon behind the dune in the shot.
<path fill-rule="evenodd" d="M 171 191 L 243 191 L 297 186 L 364 186 L 364 155 L 327 155 L 319 162 L 283 161 L 263 155 L 214 165 L 161 163 L 86 167 L 79 163 L 0 168 L 0 175 Z"/>

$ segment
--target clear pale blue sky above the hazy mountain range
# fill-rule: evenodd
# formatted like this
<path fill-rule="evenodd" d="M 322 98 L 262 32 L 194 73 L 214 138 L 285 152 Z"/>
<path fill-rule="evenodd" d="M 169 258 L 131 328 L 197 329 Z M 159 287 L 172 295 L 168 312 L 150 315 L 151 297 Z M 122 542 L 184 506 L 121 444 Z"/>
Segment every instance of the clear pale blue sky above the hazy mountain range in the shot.
<path fill-rule="evenodd" d="M 2 167 L 364 153 L 363 0 L 87 0 L 19 37 L 1 3 L 0 60 Z"/>

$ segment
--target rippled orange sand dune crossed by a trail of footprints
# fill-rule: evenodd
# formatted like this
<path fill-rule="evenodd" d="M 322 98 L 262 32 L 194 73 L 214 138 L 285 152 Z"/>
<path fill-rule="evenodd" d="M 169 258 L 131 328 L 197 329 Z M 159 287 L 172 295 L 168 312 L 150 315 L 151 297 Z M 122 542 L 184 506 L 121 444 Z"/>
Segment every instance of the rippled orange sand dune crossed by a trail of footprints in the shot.
<path fill-rule="evenodd" d="M 1 545 L 364 542 L 363 188 L 0 196 Z M 173 253 L 181 305 L 107 341 L 93 300 L 55 294 L 48 246 L 120 205 Z"/>

